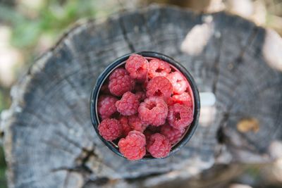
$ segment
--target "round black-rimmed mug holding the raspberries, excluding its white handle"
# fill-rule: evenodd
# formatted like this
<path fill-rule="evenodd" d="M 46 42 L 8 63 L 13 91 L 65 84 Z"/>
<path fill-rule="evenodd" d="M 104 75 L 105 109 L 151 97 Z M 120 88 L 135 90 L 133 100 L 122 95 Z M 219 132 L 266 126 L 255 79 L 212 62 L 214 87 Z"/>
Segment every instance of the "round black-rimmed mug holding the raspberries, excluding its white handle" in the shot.
<path fill-rule="evenodd" d="M 171 156 L 173 153 L 176 153 L 176 151 L 179 151 L 183 146 L 191 139 L 192 135 L 194 134 L 197 124 L 199 121 L 199 115 L 200 115 L 200 96 L 199 92 L 195 83 L 195 80 L 193 79 L 192 75 L 186 70 L 183 65 L 175 61 L 173 58 L 170 58 L 164 54 L 160 54 L 154 51 L 142 51 L 142 52 L 137 52 L 134 54 L 139 54 L 141 56 L 144 56 L 145 58 L 159 58 L 163 61 L 168 62 L 171 64 L 174 68 L 179 70 L 183 75 L 185 75 L 186 79 L 190 83 L 191 90 L 192 92 L 192 99 L 193 99 L 193 104 L 194 104 L 194 120 L 192 121 L 190 127 L 186 130 L 185 134 L 183 134 L 182 139 L 178 143 L 172 146 L 171 152 L 168 154 L 168 156 Z M 92 120 L 92 125 L 97 132 L 97 135 L 99 139 L 106 144 L 106 146 L 116 153 L 118 156 L 121 156 L 124 158 L 124 156 L 121 154 L 120 151 L 118 151 L 118 146 L 114 142 L 108 142 L 106 141 L 103 137 L 100 136 L 99 131 L 98 131 L 98 125 L 100 123 L 99 117 L 98 117 L 98 111 L 97 111 L 97 101 L 98 101 L 98 96 L 99 96 L 99 91 L 106 80 L 107 77 L 111 74 L 113 70 L 115 70 L 118 66 L 123 65 L 125 61 L 129 58 L 131 54 L 126 54 L 124 56 L 121 56 L 120 58 L 116 59 L 113 63 L 108 65 L 105 70 L 99 75 L 96 84 L 94 85 L 94 88 L 92 89 L 91 93 L 91 99 L 90 99 L 90 115 L 91 115 L 91 120 Z M 166 157 L 168 157 L 166 156 Z M 144 156 L 141 161 L 146 161 L 146 160 L 152 160 L 152 159 L 159 159 L 159 158 L 154 158 L 152 156 Z"/>

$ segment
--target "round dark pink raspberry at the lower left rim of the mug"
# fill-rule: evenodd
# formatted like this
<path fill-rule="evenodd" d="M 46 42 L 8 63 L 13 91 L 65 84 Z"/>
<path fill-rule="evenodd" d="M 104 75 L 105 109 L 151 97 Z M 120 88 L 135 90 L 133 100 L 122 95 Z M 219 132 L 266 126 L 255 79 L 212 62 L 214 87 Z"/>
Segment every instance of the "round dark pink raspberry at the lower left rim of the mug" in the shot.
<path fill-rule="evenodd" d="M 121 136 L 123 129 L 116 119 L 105 119 L 98 126 L 99 134 L 107 141 L 112 141 Z"/>

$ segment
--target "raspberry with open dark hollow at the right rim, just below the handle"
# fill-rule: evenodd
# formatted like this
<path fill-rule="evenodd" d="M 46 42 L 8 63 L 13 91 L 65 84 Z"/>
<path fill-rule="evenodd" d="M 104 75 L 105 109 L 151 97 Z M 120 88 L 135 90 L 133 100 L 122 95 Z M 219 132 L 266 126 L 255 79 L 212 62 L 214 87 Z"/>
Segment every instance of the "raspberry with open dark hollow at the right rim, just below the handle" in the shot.
<path fill-rule="evenodd" d="M 191 107 L 182 104 L 173 104 L 173 106 L 169 106 L 167 118 L 169 125 L 182 130 L 192 123 L 193 111 Z"/>

